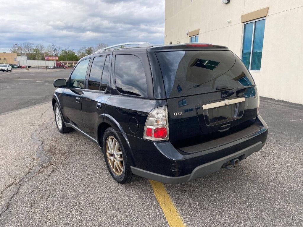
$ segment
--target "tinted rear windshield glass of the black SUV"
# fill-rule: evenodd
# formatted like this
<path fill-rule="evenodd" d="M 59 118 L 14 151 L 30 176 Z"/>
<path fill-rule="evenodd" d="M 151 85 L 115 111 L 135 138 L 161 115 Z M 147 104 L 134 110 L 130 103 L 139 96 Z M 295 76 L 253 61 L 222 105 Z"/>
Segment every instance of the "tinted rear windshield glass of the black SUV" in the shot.
<path fill-rule="evenodd" d="M 203 94 L 254 85 L 245 65 L 231 51 L 168 51 L 156 53 L 166 97 Z"/>

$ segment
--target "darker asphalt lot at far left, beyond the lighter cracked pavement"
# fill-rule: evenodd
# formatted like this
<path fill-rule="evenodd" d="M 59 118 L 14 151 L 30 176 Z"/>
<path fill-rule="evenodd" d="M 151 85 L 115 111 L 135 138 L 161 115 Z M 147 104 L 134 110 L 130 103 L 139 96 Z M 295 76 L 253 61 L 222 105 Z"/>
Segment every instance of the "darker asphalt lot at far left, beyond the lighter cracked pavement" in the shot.
<path fill-rule="evenodd" d="M 67 78 L 67 69 L 12 69 L 0 72 L 0 114 L 48 102 L 54 91 L 53 82 Z"/>

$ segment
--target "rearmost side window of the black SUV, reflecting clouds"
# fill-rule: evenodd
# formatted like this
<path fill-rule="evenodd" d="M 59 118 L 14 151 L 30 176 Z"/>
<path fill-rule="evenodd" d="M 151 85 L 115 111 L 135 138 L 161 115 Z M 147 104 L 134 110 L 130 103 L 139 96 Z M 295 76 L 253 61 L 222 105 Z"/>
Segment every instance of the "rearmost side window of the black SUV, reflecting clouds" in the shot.
<path fill-rule="evenodd" d="M 120 93 L 147 97 L 145 72 L 137 56 L 116 55 L 115 79 Z"/>

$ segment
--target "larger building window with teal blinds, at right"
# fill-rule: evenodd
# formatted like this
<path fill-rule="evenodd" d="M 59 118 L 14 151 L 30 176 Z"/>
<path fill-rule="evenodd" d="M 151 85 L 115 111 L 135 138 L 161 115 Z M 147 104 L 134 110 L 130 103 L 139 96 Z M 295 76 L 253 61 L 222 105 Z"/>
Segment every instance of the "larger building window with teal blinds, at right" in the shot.
<path fill-rule="evenodd" d="M 242 61 L 249 70 L 260 70 L 265 19 L 244 24 Z"/>

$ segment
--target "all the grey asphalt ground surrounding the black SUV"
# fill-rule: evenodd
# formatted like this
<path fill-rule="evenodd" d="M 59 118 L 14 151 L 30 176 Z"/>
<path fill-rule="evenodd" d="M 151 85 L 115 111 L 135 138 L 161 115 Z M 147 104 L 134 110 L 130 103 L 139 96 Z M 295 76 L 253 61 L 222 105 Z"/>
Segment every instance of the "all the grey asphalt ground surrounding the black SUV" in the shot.
<path fill-rule="evenodd" d="M 169 226 L 149 180 L 116 183 L 96 144 L 58 132 L 49 83 L 69 72 L 0 73 L 0 226 Z M 165 185 L 185 226 L 302 226 L 303 105 L 261 97 L 260 114 L 261 151 Z"/>

